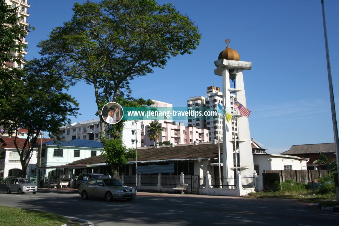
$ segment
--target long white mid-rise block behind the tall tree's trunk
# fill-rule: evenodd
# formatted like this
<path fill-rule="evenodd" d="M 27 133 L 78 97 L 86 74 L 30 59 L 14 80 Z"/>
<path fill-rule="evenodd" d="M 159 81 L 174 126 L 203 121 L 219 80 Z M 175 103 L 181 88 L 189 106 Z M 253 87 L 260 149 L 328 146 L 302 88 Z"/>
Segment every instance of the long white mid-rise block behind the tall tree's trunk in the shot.
<path fill-rule="evenodd" d="M 109 124 L 106 124 L 109 126 Z M 141 121 L 126 121 L 122 130 L 122 141 L 127 148 L 140 147 Z M 60 128 L 60 139 L 70 140 L 94 140 L 100 142 L 101 123 L 100 119 L 92 119 L 82 122 L 67 124 Z M 136 139 L 137 135 L 137 139 Z M 112 138 L 106 132 L 107 138 Z"/>

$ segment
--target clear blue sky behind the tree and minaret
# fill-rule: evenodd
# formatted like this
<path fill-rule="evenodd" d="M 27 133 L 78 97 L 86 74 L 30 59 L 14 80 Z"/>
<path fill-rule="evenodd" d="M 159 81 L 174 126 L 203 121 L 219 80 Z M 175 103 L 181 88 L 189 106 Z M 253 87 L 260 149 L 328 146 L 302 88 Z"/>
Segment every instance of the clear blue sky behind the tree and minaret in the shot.
<path fill-rule="evenodd" d="M 74 0 L 31 0 L 26 59 L 39 58 L 39 41 L 71 19 Z M 79 0 L 82 3 L 84 0 Z M 222 87 L 214 61 L 224 40 L 252 61 L 243 72 L 251 137 L 268 153 L 292 145 L 334 142 L 328 88 L 321 0 L 159 0 L 172 3 L 198 26 L 202 39 L 191 55 L 168 60 L 164 69 L 131 82 L 134 97 L 186 106 L 205 95 L 207 86 Z M 339 89 L 339 1 L 324 0 L 335 100 Z M 72 122 L 96 118 L 94 88 L 79 83 L 69 91 L 80 103 Z M 337 111 L 339 111 L 337 104 Z"/>

